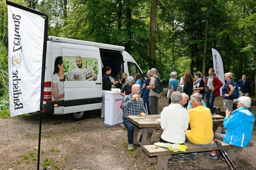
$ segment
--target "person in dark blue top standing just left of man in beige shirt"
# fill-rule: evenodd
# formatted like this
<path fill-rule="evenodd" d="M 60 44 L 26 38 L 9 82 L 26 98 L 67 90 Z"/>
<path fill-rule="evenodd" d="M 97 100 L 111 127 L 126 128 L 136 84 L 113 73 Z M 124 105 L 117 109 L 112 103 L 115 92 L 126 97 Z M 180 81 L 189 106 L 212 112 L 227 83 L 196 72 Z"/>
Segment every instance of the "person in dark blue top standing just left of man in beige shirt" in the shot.
<path fill-rule="evenodd" d="M 148 70 L 146 76 L 148 78 L 145 80 L 145 83 L 142 86 L 142 89 L 143 89 L 142 90 L 142 94 L 143 94 L 142 99 L 144 101 L 144 106 L 146 108 L 146 111 L 147 111 L 148 115 L 150 115 L 150 109 L 149 109 L 149 92 L 150 92 L 150 90 L 146 88 L 147 86 L 149 86 L 149 83 L 150 83 L 150 78 L 151 78 L 150 70 Z"/>

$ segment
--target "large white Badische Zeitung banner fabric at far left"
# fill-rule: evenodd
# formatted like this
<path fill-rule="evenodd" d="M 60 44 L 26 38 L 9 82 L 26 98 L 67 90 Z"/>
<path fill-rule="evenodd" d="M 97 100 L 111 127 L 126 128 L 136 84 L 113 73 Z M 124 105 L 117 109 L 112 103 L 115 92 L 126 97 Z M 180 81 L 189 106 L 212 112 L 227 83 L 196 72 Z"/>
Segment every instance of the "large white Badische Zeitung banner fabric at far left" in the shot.
<path fill-rule="evenodd" d="M 8 5 L 8 71 L 11 117 L 40 110 L 42 16 Z"/>

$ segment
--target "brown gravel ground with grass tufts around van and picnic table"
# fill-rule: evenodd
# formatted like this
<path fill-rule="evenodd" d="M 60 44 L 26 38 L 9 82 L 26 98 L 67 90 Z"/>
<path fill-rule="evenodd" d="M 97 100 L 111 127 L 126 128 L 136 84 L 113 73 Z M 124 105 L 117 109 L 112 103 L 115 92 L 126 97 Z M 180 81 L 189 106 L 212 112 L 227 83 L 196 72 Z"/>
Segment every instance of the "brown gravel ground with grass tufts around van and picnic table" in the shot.
<path fill-rule="evenodd" d="M 166 98 L 159 101 L 159 112 L 167 106 Z M 215 100 L 222 108 L 222 98 Z M 256 107 L 251 111 L 255 113 Z M 221 128 L 218 128 L 220 131 Z M 0 119 L 0 170 L 36 170 L 39 116 Z M 152 143 L 160 139 L 160 130 L 154 130 Z M 239 170 L 256 169 L 256 130 L 253 147 L 240 153 Z M 120 125 L 109 127 L 100 118 L 100 111 L 90 111 L 82 121 L 70 121 L 65 115 L 43 115 L 40 167 L 47 170 L 153 170 L 138 150 L 128 151 L 127 132 Z M 209 160 L 202 153 L 197 162 L 175 161 L 170 170 L 226 170 L 228 165 L 219 155 Z"/>

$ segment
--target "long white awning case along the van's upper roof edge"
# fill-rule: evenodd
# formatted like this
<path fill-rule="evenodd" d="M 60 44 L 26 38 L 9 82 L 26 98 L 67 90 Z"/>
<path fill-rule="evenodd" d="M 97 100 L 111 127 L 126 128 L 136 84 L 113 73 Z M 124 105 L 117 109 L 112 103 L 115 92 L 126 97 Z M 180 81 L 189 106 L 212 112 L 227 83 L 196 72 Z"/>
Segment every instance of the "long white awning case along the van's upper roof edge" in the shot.
<path fill-rule="evenodd" d="M 118 45 L 95 43 L 95 42 L 90 42 L 90 41 L 82 41 L 82 40 L 77 40 L 77 39 L 68 39 L 68 38 L 54 37 L 54 36 L 48 36 L 48 38 L 50 39 L 50 41 L 58 41 L 58 42 L 62 42 L 62 43 L 90 45 L 90 46 L 94 46 L 94 47 L 124 50 L 123 46 L 118 46 Z"/>

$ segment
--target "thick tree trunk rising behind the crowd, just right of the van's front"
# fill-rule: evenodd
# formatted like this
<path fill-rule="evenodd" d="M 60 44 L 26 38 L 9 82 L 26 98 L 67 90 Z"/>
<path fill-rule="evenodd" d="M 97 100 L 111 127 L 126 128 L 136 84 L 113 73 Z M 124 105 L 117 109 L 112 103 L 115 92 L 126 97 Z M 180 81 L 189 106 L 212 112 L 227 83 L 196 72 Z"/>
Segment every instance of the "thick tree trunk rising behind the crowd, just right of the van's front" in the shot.
<path fill-rule="evenodd" d="M 152 61 L 148 62 L 149 68 L 156 66 L 156 9 L 157 0 L 151 0 L 149 56 Z"/>

